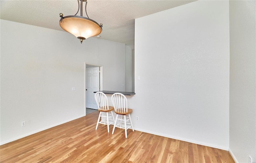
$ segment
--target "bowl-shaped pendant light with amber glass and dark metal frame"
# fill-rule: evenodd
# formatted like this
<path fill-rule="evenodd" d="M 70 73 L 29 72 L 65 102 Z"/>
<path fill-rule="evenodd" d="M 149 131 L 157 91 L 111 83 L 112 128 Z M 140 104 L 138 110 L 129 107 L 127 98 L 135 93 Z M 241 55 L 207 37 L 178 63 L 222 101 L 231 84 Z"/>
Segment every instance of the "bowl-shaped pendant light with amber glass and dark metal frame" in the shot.
<path fill-rule="evenodd" d="M 79 3 L 80 1 L 80 3 Z M 90 19 L 86 12 L 86 0 L 77 0 L 78 2 L 78 10 L 76 14 L 78 13 L 80 9 L 80 16 L 64 16 L 60 13 L 60 27 L 67 31 L 68 33 L 73 34 L 78 39 L 80 39 L 80 42 L 82 43 L 84 39 L 87 39 L 88 37 L 99 35 L 102 31 L 102 24 L 98 24 L 94 20 Z M 83 2 L 85 2 L 85 13 L 88 18 L 83 16 Z"/>

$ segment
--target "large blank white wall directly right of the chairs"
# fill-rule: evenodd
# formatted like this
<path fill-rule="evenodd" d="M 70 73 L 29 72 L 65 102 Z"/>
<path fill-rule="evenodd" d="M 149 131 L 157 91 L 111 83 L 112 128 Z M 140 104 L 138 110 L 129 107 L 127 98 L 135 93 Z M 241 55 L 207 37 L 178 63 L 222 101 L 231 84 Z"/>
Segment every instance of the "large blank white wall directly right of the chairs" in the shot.
<path fill-rule="evenodd" d="M 228 150 L 228 1 L 136 19 L 135 92 L 136 130 Z"/>

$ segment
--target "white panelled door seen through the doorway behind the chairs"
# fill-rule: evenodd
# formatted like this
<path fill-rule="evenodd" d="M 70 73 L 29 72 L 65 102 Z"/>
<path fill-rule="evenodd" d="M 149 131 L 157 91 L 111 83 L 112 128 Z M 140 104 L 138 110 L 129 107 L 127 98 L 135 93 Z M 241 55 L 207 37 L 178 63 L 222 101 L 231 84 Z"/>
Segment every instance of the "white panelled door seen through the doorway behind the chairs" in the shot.
<path fill-rule="evenodd" d="M 86 108 L 98 109 L 94 93 L 100 90 L 100 68 L 86 68 Z"/>

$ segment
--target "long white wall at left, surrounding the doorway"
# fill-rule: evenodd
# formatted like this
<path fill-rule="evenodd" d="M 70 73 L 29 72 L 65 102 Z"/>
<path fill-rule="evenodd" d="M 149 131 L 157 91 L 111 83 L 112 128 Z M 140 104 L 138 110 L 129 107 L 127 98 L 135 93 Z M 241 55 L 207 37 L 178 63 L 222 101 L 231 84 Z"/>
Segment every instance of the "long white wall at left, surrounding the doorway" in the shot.
<path fill-rule="evenodd" d="M 125 90 L 125 44 L 0 23 L 0 144 L 84 116 L 84 62 L 104 67 L 104 89 Z"/>

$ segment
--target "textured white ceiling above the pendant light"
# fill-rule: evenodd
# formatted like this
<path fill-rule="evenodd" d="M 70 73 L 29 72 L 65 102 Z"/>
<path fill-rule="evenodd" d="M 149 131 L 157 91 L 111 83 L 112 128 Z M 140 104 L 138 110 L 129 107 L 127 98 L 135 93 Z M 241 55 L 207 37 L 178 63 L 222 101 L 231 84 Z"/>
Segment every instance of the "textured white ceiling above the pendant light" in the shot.
<path fill-rule="evenodd" d="M 87 14 L 90 19 L 103 24 L 99 39 L 126 43 L 134 49 L 136 18 L 194 1 L 87 0 Z M 59 14 L 63 13 L 64 16 L 76 14 L 78 2 L 77 0 L 1 0 L 0 9 L 1 19 L 63 31 L 59 26 Z M 80 15 L 80 12 L 77 15 Z M 84 7 L 83 16 L 86 16 Z"/>

